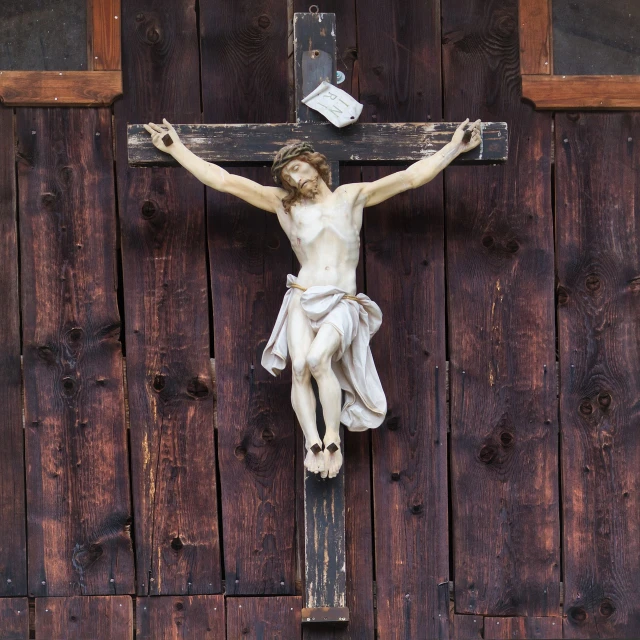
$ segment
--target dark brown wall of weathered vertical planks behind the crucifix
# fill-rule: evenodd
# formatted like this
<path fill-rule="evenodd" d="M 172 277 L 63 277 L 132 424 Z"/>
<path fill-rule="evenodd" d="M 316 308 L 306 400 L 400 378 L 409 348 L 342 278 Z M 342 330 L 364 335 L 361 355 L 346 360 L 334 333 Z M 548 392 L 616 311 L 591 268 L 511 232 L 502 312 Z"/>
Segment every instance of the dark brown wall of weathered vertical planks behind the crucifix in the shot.
<path fill-rule="evenodd" d="M 345 438 L 351 623 L 305 639 L 640 635 L 640 120 L 523 103 L 516 5 L 320 6 L 364 121 L 505 120 L 510 159 L 365 212 L 389 414 Z M 128 122 L 290 120 L 290 17 L 131 0 L 111 111 L 0 110 L 0 640 L 34 597 L 37 640 L 303 637 L 301 443 L 260 366 L 292 252 L 126 165 Z"/>

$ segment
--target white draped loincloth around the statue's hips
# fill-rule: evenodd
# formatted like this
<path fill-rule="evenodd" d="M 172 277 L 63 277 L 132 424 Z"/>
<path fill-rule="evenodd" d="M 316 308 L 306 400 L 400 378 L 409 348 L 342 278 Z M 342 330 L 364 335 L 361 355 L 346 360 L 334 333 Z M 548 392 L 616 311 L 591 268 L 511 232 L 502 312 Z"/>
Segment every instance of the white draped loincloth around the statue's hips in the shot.
<path fill-rule="evenodd" d="M 297 278 L 289 274 L 289 290 L 262 354 L 262 366 L 273 376 L 287 364 L 289 305 L 294 293 L 292 285 L 296 284 Z M 338 287 L 309 287 L 302 292 L 300 305 L 314 331 L 330 324 L 340 334 L 340 346 L 331 361 L 345 394 L 340 422 L 349 431 L 365 431 L 379 427 L 387 413 L 387 400 L 369 347 L 369 341 L 382 323 L 382 311 L 363 293 L 356 296 L 357 302 L 345 295 L 347 292 Z"/>

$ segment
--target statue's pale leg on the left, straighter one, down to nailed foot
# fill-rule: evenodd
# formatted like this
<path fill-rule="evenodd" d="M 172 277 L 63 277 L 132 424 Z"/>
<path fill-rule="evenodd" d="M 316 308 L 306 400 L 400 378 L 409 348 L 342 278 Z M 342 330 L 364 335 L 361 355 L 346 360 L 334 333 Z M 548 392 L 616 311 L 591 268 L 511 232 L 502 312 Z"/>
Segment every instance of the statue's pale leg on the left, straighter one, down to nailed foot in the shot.
<path fill-rule="evenodd" d="M 311 386 L 311 374 L 307 366 L 307 353 L 315 334 L 307 316 L 300 308 L 299 296 L 289 306 L 287 343 L 291 354 L 291 404 L 304 433 L 307 455 L 304 466 L 311 473 L 325 473 L 322 440 L 316 424 L 316 397 Z"/>

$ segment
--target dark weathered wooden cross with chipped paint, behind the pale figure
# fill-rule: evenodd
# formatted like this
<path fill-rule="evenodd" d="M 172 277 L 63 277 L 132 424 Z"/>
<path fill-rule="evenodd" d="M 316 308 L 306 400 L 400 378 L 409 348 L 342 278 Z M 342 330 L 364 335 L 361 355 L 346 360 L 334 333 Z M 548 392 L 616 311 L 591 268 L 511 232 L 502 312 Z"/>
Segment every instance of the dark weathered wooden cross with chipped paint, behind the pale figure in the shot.
<path fill-rule="evenodd" d="M 295 124 L 174 125 L 182 142 L 201 158 L 216 164 L 271 165 L 280 147 L 310 142 L 331 164 L 333 186 L 339 184 L 340 163 L 406 164 L 433 155 L 451 140 L 459 123 L 356 123 L 337 129 L 301 100 L 323 80 L 336 82 L 335 14 L 296 13 Z M 143 125 L 129 125 L 129 163 L 132 166 L 177 166 L 151 143 Z M 496 164 L 507 159 L 507 125 L 482 125 L 482 143 L 453 164 Z M 274 318 L 275 320 L 275 318 Z M 318 430 L 324 421 L 316 389 Z M 341 440 L 344 442 L 342 429 Z M 304 453 L 303 453 L 304 455 Z M 349 461 L 345 460 L 345 466 Z M 343 471 L 325 480 L 305 469 L 305 604 L 308 624 L 346 624 L 345 502 Z"/>

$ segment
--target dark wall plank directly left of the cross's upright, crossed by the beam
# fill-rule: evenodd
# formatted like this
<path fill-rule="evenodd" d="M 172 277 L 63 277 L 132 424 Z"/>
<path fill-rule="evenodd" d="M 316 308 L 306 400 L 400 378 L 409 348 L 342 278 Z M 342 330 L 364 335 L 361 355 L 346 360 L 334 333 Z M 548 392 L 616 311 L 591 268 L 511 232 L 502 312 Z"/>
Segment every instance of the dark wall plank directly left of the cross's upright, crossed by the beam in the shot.
<path fill-rule="evenodd" d="M 200 3 L 200 25 L 205 119 L 285 120 L 286 3 L 248 0 L 238 11 L 206 0 Z M 272 183 L 266 169 L 234 172 Z M 295 425 L 290 377 L 273 378 L 260 358 L 286 291 L 292 251 L 276 216 L 232 196 L 208 189 L 207 216 L 226 592 L 291 594 Z"/>

